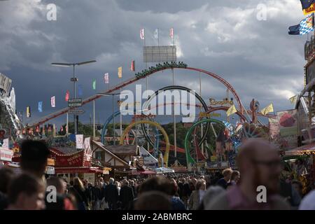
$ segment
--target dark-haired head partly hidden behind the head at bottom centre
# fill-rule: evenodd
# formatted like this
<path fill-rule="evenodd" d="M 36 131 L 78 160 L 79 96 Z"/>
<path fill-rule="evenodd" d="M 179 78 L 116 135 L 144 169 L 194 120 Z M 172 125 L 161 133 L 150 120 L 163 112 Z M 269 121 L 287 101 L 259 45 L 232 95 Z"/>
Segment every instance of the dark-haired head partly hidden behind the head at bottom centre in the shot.
<path fill-rule="evenodd" d="M 167 178 L 165 178 L 164 176 L 155 176 L 151 179 L 146 179 L 144 183 L 141 183 L 141 186 L 139 187 L 139 194 L 141 195 L 142 193 L 156 190 L 167 195 L 172 195 L 172 188 L 170 186 L 171 185 Z"/>

